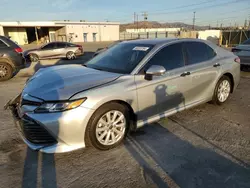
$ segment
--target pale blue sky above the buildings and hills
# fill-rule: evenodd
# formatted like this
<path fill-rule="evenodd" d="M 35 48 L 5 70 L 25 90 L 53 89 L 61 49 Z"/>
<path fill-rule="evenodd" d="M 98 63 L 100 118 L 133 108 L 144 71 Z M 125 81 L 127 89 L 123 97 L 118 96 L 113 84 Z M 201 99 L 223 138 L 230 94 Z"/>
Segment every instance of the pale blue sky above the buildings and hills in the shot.
<path fill-rule="evenodd" d="M 149 21 L 197 25 L 243 24 L 250 19 L 250 0 L 0 0 L 1 21 L 86 20 L 133 22 L 148 12 Z M 40 3 L 38 3 L 40 2 Z"/>

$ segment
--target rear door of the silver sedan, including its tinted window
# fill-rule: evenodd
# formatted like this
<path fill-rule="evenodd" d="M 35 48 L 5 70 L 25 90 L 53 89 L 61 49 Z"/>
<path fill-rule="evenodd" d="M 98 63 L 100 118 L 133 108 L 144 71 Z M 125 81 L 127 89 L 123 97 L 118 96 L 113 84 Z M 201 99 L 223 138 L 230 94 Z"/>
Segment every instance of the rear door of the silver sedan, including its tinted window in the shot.
<path fill-rule="evenodd" d="M 216 52 L 199 41 L 185 42 L 184 49 L 187 58 L 186 71 L 190 73 L 192 84 L 187 101 L 194 104 L 211 99 L 221 70 Z"/>

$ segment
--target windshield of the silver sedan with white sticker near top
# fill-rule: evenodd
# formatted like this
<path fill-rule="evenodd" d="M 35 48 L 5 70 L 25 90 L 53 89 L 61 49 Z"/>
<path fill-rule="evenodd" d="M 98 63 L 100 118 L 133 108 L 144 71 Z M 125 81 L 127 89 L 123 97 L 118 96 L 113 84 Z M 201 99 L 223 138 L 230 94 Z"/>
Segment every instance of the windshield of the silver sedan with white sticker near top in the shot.
<path fill-rule="evenodd" d="M 108 72 L 130 74 L 153 47 L 148 44 L 119 43 L 85 65 Z"/>

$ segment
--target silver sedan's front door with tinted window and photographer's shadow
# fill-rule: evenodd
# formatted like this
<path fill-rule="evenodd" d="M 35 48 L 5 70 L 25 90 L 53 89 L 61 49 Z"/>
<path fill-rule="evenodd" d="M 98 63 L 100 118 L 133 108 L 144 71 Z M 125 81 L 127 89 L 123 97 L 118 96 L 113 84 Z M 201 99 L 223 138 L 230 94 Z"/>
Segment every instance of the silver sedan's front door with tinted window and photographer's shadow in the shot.
<path fill-rule="evenodd" d="M 146 71 L 152 65 L 161 65 L 167 71 L 164 75 L 153 76 L 150 81 L 145 80 L 145 75 L 135 76 L 139 121 L 185 108 L 190 78 L 183 74 L 186 69 L 182 46 L 182 43 L 175 43 L 162 48 L 143 68 Z"/>

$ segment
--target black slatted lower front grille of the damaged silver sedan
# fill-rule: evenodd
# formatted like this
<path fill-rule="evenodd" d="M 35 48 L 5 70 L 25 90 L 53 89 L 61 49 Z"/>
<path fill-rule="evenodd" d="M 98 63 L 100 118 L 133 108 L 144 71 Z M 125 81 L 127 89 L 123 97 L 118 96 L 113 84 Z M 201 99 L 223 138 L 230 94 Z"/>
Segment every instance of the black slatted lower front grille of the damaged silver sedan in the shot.
<path fill-rule="evenodd" d="M 21 130 L 25 138 L 33 144 L 54 144 L 56 140 L 50 135 L 50 133 L 39 125 L 37 122 L 30 119 L 28 116 L 24 116 L 20 120 Z"/>

